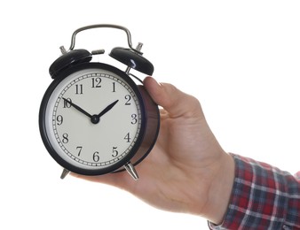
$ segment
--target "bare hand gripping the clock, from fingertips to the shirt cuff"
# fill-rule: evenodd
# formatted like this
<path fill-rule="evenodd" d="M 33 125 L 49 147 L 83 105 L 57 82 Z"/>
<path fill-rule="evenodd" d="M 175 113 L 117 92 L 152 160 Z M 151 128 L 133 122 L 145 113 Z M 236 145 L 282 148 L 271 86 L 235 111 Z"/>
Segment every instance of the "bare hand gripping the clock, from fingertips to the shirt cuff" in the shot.
<path fill-rule="evenodd" d="M 144 85 L 162 109 L 154 149 L 136 166 L 139 180 L 127 172 L 73 175 L 122 188 L 158 209 L 220 224 L 233 188 L 233 157 L 217 142 L 195 97 L 152 77 L 146 77 Z"/>

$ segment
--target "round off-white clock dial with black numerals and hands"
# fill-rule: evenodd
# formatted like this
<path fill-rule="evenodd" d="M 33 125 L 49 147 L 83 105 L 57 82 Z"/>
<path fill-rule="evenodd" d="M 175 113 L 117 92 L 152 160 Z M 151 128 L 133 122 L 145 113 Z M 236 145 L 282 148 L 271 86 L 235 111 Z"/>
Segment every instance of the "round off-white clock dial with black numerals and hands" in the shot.
<path fill-rule="evenodd" d="M 140 104 L 125 73 L 87 68 L 69 74 L 51 89 L 44 110 L 52 157 L 75 173 L 120 168 L 143 136 Z"/>

